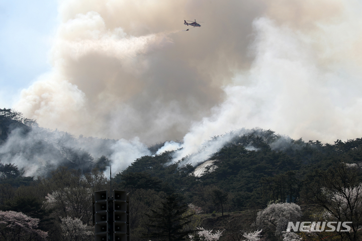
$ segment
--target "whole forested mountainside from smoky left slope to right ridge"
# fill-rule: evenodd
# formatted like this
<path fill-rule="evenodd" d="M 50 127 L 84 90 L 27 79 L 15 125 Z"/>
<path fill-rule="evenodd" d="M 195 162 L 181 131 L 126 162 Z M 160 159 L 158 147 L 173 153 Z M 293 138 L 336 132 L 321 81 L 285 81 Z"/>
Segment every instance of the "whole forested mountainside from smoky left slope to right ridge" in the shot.
<path fill-rule="evenodd" d="M 127 145 L 119 145 L 119 140 L 74 138 L 67 133 L 41 129 L 35 121 L 11 109 L 0 111 L 0 208 L 39 218 L 38 229 L 48 233 L 48 240 L 91 240 L 92 193 L 109 189 L 104 172 L 112 163 L 117 165 L 112 160 L 119 153 L 117 148 L 124 151 Z M 177 194 L 189 204 L 197 217 L 192 220 L 192 228 L 210 227 L 208 213 L 222 212 L 224 216 L 227 212 L 223 220 L 229 220 L 229 224 L 217 224 L 220 230 L 225 229 L 221 240 L 241 240 L 233 239 L 232 231 L 240 230 L 241 226 L 228 226 L 240 216 L 230 216 L 230 212 L 251 213 L 240 222 L 244 231 L 256 230 L 257 212 L 252 210 L 269 207 L 270 203 L 312 206 L 319 203 L 319 209 L 313 212 L 316 215 L 323 212 L 320 201 L 323 199 L 319 195 L 333 178 L 344 182 L 344 188 L 348 189 L 358 186 L 362 177 L 360 138 L 323 144 L 254 129 L 234 135 L 221 149 L 200 160 L 199 163 L 212 161 L 216 167 L 210 171 L 209 166 L 200 177 L 194 175 L 197 165 L 190 164 L 189 157 L 174 162 L 174 151 L 156 154 L 162 146 L 146 148 L 143 152 L 147 155 L 134 159 L 113 178 L 115 189 L 130 192 L 133 240 L 149 240 L 144 234 L 154 230 L 146 225 L 147 215 L 170 195 Z M 32 168 L 34 172 L 30 172 Z M 306 211 L 303 215 L 308 218 L 312 214 Z M 249 223 L 245 224 L 245 220 Z M 72 230 L 67 230 L 70 222 L 78 225 L 87 239 L 72 239 L 69 236 Z M 265 229 L 264 235 L 280 239 L 274 232 Z"/>

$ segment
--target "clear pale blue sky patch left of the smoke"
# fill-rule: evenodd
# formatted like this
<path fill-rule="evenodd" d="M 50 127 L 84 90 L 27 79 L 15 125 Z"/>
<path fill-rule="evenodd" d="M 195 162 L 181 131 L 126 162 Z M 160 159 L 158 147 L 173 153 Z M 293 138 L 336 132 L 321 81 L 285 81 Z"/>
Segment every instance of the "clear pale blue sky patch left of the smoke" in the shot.
<path fill-rule="evenodd" d="M 48 52 L 57 26 L 56 0 L 0 0 L 0 108 L 50 70 Z"/>

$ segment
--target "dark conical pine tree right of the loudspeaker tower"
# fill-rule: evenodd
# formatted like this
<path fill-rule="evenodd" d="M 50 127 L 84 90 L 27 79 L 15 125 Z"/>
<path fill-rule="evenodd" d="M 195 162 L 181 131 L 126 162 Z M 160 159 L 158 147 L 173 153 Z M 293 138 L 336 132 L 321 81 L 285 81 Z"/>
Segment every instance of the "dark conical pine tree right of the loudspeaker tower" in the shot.
<path fill-rule="evenodd" d="M 164 241 L 186 240 L 188 234 L 194 230 L 184 230 L 184 226 L 190 223 L 193 214 L 185 215 L 188 210 L 187 204 L 182 204 L 180 196 L 171 194 L 165 198 L 158 210 L 152 210 L 148 217 L 148 227 L 154 231 L 145 233 L 145 237 L 156 238 Z"/>

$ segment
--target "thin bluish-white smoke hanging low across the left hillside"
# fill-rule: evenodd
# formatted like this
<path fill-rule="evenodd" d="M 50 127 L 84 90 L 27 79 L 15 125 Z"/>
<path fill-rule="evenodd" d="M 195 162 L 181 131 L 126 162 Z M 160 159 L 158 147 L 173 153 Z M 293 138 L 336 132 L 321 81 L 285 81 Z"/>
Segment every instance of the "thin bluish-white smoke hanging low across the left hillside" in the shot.
<path fill-rule="evenodd" d="M 151 152 L 137 138 L 130 141 L 75 138 L 37 126 L 14 129 L 0 145 L 0 162 L 15 164 L 25 176 L 47 176 L 61 165 L 87 172 L 96 167 L 102 156 L 111 160 L 114 173 L 118 173 L 147 155 Z M 107 176 L 109 171 L 108 166 Z"/>

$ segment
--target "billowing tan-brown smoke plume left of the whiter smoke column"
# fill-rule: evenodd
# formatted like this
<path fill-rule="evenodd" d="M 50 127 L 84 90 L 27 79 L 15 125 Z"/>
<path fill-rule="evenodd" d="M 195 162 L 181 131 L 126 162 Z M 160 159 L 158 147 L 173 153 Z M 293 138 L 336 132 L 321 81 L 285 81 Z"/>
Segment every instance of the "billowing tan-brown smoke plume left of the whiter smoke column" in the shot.
<path fill-rule="evenodd" d="M 246 36 L 261 13 L 252 2 L 230 2 L 231 18 L 210 14 L 223 4 L 206 1 L 63 1 L 54 69 L 14 108 L 74 135 L 180 140 L 222 101 L 230 67 L 249 65 Z M 190 16 L 207 25 L 179 32 Z"/>

